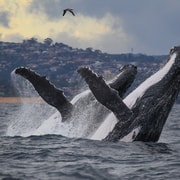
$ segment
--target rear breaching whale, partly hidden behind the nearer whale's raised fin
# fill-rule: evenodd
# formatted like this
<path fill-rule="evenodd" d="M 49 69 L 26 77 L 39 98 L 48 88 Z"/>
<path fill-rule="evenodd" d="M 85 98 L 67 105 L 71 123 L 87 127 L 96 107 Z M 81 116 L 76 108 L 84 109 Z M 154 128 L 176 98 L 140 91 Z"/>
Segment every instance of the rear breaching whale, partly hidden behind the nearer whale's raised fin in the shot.
<path fill-rule="evenodd" d="M 35 90 L 44 99 L 45 102 L 55 107 L 61 114 L 62 122 L 70 123 L 74 119 L 83 119 L 87 123 L 84 125 L 83 137 L 89 137 L 104 121 L 110 113 L 109 110 L 101 105 L 87 90 L 75 96 L 72 101 L 64 95 L 63 90 L 51 84 L 45 76 L 40 76 L 27 68 L 17 68 L 15 73 L 27 79 L 34 86 Z M 120 68 L 120 73 L 109 82 L 111 88 L 115 89 L 120 97 L 126 93 L 131 86 L 137 74 L 137 68 L 134 65 L 124 65 Z M 57 114 L 57 113 L 56 113 Z M 51 117 L 59 118 L 59 116 Z M 75 122 L 75 123 L 76 123 Z"/>

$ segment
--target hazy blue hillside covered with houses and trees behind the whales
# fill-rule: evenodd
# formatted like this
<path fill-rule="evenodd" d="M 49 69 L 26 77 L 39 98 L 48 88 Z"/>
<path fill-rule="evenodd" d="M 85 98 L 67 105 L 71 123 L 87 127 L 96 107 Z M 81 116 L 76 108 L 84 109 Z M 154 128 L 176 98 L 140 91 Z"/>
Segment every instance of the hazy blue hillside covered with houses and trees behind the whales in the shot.
<path fill-rule="evenodd" d="M 63 43 L 53 43 L 50 38 L 43 43 L 35 38 L 22 43 L 0 42 L 0 96 L 18 96 L 10 74 L 20 66 L 46 75 L 57 87 L 65 90 L 66 95 L 73 96 L 82 86 L 76 72 L 80 66 L 89 66 L 109 79 L 118 73 L 120 66 L 135 64 L 138 75 L 134 86 L 137 86 L 159 69 L 166 58 L 167 55 L 107 54 L 92 48 L 77 49 Z"/>

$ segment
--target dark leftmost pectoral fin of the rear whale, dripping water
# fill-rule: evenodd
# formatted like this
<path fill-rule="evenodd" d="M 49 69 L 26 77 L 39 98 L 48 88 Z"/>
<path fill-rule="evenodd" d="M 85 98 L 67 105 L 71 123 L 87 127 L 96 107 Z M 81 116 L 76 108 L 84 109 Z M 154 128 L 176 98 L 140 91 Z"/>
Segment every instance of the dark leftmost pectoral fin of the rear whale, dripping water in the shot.
<path fill-rule="evenodd" d="M 17 68 L 15 73 L 29 80 L 44 101 L 55 107 L 62 117 L 67 116 L 72 110 L 73 105 L 67 100 L 63 91 L 52 85 L 45 76 L 40 76 L 27 68 Z"/>

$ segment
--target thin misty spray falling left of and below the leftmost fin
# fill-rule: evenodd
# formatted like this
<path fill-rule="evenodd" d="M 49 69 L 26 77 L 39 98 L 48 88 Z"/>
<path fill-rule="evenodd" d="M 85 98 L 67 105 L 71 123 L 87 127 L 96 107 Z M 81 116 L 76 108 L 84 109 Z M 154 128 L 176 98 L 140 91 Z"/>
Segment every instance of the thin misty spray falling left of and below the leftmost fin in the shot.
<path fill-rule="evenodd" d="M 24 78 L 11 73 L 12 83 L 20 97 L 39 97 L 34 87 Z M 7 129 L 8 136 L 26 136 L 31 135 L 55 109 L 46 103 L 23 102 L 12 115 Z"/>

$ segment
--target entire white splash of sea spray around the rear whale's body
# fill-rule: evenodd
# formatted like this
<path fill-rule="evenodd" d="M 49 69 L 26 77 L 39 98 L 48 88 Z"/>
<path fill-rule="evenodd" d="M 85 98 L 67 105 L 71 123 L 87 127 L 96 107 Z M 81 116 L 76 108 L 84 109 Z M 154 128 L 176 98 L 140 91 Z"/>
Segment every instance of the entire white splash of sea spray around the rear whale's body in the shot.
<path fill-rule="evenodd" d="M 14 72 L 11 74 L 14 87 L 20 97 L 39 97 L 34 87 Z M 7 129 L 8 136 L 30 136 L 60 134 L 67 137 L 90 138 L 102 123 L 102 116 L 107 109 L 90 93 L 84 91 L 71 101 L 74 104 L 72 116 L 62 122 L 60 113 L 47 103 L 21 103 L 19 109 L 11 117 Z M 56 112 L 56 113 L 55 113 Z M 99 113 L 100 112 L 100 113 Z M 105 112 L 105 113 L 104 113 Z"/>

